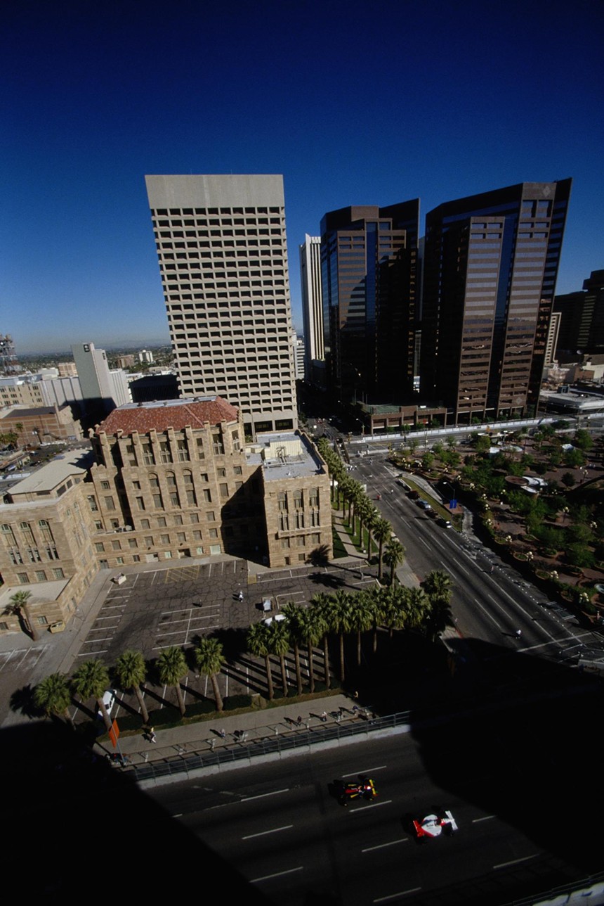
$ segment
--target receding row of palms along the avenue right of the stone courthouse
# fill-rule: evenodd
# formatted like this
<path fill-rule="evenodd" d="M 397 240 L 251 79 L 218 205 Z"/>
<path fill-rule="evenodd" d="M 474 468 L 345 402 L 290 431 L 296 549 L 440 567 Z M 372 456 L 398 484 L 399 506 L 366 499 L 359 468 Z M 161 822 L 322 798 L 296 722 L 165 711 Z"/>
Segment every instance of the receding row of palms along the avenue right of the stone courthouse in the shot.
<path fill-rule="evenodd" d="M 356 534 L 357 527 L 359 538 L 363 539 L 363 533 L 367 533 L 367 552 L 370 557 L 373 542 L 378 545 L 378 578 L 382 579 L 383 564 L 385 563 L 390 568 L 392 584 L 396 568 L 404 559 L 405 548 L 398 538 L 392 535 L 392 525 L 387 519 L 382 518 L 380 512 L 363 491 L 361 484 L 350 477 L 344 462 L 330 447 L 329 441 L 326 438 L 319 438 L 316 446 L 329 469 L 332 503 L 346 514 L 353 535 Z"/>

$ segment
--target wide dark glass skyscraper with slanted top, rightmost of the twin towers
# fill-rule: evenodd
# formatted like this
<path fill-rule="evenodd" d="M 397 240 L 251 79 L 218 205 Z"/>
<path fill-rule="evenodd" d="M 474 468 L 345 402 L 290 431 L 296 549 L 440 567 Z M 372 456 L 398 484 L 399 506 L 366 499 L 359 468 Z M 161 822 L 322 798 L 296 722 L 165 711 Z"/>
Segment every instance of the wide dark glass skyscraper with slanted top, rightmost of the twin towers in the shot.
<path fill-rule="evenodd" d="M 448 421 L 534 410 L 570 194 L 524 182 L 427 215 L 420 391 Z"/>

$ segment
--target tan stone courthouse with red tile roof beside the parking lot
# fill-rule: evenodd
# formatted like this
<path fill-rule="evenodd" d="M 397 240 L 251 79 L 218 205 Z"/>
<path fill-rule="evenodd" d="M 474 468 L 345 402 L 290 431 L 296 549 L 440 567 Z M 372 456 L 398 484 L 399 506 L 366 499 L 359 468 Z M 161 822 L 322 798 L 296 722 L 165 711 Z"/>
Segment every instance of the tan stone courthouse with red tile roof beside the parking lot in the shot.
<path fill-rule="evenodd" d="M 241 411 L 214 396 L 122 406 L 90 433 L 92 461 L 54 460 L 5 494 L 0 610 L 27 590 L 36 625 L 66 621 L 99 568 L 332 556 L 326 464 L 299 431 L 246 447 Z"/>

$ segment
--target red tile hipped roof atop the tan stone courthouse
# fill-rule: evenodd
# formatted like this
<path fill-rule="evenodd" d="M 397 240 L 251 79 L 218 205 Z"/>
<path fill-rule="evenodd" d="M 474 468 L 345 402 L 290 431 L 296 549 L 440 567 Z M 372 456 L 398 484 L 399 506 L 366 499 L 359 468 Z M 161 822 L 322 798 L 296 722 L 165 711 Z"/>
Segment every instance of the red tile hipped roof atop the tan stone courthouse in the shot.
<path fill-rule="evenodd" d="M 121 406 L 109 413 L 107 419 L 101 421 L 95 433 L 105 431 L 107 434 L 116 434 L 119 430 L 124 434 L 138 431 L 146 434 L 147 431 L 165 431 L 173 428 L 175 431 L 184 429 L 187 425 L 191 428 L 203 428 L 204 422 L 218 425 L 221 421 L 237 421 L 237 409 L 221 397 L 211 400 L 169 400 L 164 403 L 154 403 L 143 406 Z"/>

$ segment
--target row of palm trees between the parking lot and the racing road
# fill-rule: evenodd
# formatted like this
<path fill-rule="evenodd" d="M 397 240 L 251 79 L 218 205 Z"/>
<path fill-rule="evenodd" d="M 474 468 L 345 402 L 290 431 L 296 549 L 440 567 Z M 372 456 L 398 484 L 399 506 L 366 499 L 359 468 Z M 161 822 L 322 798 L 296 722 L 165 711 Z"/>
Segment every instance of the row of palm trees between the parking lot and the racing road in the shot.
<path fill-rule="evenodd" d="M 331 686 L 329 642 L 335 636 L 339 660 L 340 682 L 346 679 L 345 639 L 355 640 L 356 664 L 361 665 L 363 655 L 363 634 L 371 633 L 372 651 L 377 651 L 380 629 L 392 639 L 396 630 L 415 630 L 435 639 L 451 622 L 450 597 L 452 583 L 448 573 L 429 573 L 421 588 L 407 588 L 392 584 L 369 588 L 363 592 L 350 593 L 344 590 L 333 594 L 316 594 L 309 604 L 288 603 L 282 609 L 283 621 L 273 620 L 269 625 L 256 622 L 250 626 L 246 636 L 246 647 L 250 654 L 264 659 L 269 699 L 275 697 L 275 686 L 271 658 L 277 658 L 281 674 L 282 695 L 289 692 L 287 657 L 293 651 L 296 672 L 297 695 L 304 689 L 301 652 L 307 654 L 307 685 L 311 693 L 316 687 L 315 649 L 323 651 L 323 666 L 320 673 L 327 689 Z M 216 709 L 222 711 L 223 701 L 218 682 L 225 657 L 222 643 L 215 636 L 203 636 L 193 647 L 193 660 L 200 674 L 212 682 Z M 137 696 L 141 717 L 147 724 L 149 715 L 143 696 L 142 686 L 146 682 L 146 661 L 140 651 L 124 651 L 115 663 L 115 677 L 121 689 L 133 690 Z M 185 714 L 181 683 L 189 672 L 185 652 L 178 646 L 171 646 L 161 652 L 156 660 L 157 677 L 162 684 L 175 689 L 178 708 Z M 80 664 L 73 676 L 53 673 L 34 690 L 34 701 L 48 715 L 63 716 L 70 723 L 69 712 L 72 696 L 82 701 L 96 699 L 106 728 L 111 720 L 103 702 L 103 694 L 109 688 L 109 670 L 100 660 L 87 660 Z"/>

